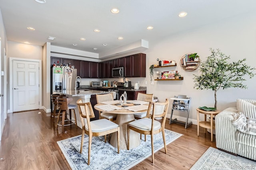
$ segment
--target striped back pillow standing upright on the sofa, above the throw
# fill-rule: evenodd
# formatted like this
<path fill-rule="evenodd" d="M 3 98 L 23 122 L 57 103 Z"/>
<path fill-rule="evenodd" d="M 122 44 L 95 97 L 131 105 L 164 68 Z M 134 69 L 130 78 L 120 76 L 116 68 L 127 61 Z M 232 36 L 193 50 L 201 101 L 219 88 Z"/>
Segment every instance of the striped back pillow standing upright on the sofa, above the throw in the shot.
<path fill-rule="evenodd" d="M 246 117 L 251 117 L 256 119 L 256 100 L 250 99 L 238 99 L 236 102 L 236 106 L 238 112 L 244 113 Z"/>

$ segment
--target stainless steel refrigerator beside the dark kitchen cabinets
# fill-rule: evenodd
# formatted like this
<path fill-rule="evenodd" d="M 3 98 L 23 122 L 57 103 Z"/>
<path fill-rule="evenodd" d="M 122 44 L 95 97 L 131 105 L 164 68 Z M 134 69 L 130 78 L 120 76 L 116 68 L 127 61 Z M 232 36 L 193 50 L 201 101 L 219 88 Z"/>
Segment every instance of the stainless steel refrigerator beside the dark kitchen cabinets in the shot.
<path fill-rule="evenodd" d="M 76 69 L 53 67 L 51 69 L 51 94 L 56 90 L 74 90 Z"/>

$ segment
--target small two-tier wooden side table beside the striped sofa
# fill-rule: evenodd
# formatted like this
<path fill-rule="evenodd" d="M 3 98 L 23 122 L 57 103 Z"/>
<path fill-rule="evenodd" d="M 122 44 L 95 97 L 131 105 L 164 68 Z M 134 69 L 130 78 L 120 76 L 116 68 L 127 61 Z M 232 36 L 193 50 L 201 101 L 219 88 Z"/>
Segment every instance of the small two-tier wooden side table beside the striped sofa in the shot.
<path fill-rule="evenodd" d="M 215 123 L 213 123 L 213 115 L 217 115 L 218 113 L 220 113 L 220 110 L 216 110 L 216 111 L 205 111 L 202 109 L 197 108 L 197 135 L 199 136 L 199 126 L 204 127 L 204 133 L 206 133 L 206 129 L 211 129 L 211 141 L 212 141 L 212 131 L 213 129 L 215 129 Z M 204 121 L 199 121 L 199 113 L 204 114 Z M 211 119 L 210 122 L 206 121 L 206 115 L 210 115 Z"/>

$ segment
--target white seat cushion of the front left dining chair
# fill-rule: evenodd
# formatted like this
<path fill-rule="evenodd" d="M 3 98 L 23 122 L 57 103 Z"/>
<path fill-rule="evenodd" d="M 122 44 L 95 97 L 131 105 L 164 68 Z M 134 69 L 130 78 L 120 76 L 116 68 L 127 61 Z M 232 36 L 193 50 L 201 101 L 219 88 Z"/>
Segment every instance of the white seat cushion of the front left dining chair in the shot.
<path fill-rule="evenodd" d="M 110 129 L 114 129 L 119 126 L 118 124 L 116 124 L 112 121 L 109 121 L 108 119 L 98 119 L 98 120 L 90 121 L 90 124 L 92 127 L 92 132 L 103 132 L 103 131 L 107 131 Z M 87 123 L 85 125 L 85 129 L 86 129 L 86 131 L 88 131 Z"/>

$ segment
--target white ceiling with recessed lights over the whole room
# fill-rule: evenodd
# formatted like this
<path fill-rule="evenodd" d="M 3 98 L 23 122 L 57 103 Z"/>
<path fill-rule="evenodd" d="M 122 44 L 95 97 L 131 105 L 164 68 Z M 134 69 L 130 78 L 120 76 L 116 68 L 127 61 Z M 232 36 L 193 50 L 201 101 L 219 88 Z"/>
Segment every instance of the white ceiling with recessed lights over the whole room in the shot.
<path fill-rule="evenodd" d="M 119 14 L 110 10 L 118 8 Z M 8 41 L 98 53 L 154 41 L 256 10 L 255 0 L 0 0 Z M 180 12 L 187 12 L 179 18 Z M 147 30 L 148 26 L 154 29 Z M 30 31 L 27 27 L 34 27 Z M 100 29 L 99 33 L 94 29 Z M 53 41 L 47 37 L 56 37 Z M 124 37 L 118 40 L 117 37 Z M 86 41 L 80 41 L 83 37 Z M 72 44 L 76 43 L 77 46 Z M 103 44 L 108 44 L 103 46 Z M 97 48 L 95 51 L 93 48 Z M 106 54 L 106 55 L 105 55 Z"/>

